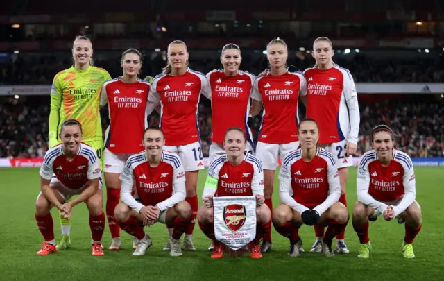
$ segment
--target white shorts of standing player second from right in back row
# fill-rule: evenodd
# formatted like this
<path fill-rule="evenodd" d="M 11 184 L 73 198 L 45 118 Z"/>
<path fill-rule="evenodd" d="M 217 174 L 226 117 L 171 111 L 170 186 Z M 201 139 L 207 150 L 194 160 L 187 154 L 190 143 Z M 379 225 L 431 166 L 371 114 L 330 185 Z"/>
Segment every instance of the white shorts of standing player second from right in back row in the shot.
<path fill-rule="evenodd" d="M 299 142 L 289 142 L 288 144 L 266 144 L 257 142 L 256 157 L 262 161 L 262 168 L 275 170 L 278 167 L 278 157 L 284 160 L 285 155 L 291 151 L 296 151 Z"/>

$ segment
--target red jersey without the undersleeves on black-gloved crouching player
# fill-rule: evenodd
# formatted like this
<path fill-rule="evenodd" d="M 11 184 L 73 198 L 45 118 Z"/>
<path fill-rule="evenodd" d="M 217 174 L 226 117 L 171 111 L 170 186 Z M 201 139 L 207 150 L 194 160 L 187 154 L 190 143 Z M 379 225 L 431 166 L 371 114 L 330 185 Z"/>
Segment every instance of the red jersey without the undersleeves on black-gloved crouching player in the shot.
<path fill-rule="evenodd" d="M 333 156 L 323 149 L 318 149 L 310 162 L 302 158 L 301 148 L 289 153 L 284 157 L 279 174 L 281 181 L 291 180 L 294 200 L 309 208 L 323 203 L 332 188 L 341 191 L 338 177 Z"/>

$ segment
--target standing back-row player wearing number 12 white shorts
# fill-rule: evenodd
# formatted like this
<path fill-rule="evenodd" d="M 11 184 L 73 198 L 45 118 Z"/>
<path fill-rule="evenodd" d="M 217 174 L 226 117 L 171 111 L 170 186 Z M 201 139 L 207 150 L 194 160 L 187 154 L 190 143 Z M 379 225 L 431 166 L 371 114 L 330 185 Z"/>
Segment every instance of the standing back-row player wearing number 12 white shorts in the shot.
<path fill-rule="evenodd" d="M 160 127 L 165 134 L 164 151 L 177 153 L 185 169 L 187 199 L 193 211 L 193 221 L 185 232 L 184 249 L 195 250 L 192 241 L 198 210 L 197 179 L 204 169 L 198 127 L 200 93 L 211 99 L 210 84 L 205 75 L 188 67 L 187 45 L 180 40 L 168 46 L 168 64 L 162 74 L 155 77 L 148 100 L 160 104 Z M 169 236 L 173 229 L 169 228 Z M 169 250 L 167 244 L 164 250 Z"/>

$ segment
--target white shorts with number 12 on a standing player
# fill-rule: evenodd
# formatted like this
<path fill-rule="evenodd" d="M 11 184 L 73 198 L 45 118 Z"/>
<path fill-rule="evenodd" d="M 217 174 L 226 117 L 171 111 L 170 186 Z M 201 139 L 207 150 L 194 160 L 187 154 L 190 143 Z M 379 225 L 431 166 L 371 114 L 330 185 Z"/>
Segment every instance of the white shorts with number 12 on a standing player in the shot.
<path fill-rule="evenodd" d="M 180 160 L 182 160 L 183 169 L 185 171 L 197 171 L 205 168 L 203 166 L 200 142 L 193 142 L 192 144 L 187 144 L 185 146 L 164 146 L 162 149 L 164 151 L 176 153 L 180 157 Z"/>

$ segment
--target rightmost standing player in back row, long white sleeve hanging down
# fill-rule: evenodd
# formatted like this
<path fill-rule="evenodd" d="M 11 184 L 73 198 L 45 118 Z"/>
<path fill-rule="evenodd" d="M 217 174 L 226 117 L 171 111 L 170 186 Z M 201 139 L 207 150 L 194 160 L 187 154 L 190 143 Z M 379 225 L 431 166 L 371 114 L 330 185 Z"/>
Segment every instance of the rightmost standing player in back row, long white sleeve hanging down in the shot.
<path fill-rule="evenodd" d="M 316 65 L 304 72 L 307 79 L 307 118 L 319 124 L 319 144 L 336 158 L 336 166 L 341 180 L 339 202 L 347 206 L 345 186 L 348 167 L 352 166 L 359 133 L 359 106 L 355 82 L 348 69 L 334 64 L 332 42 L 327 37 L 319 37 L 313 43 L 312 55 Z M 323 225 L 314 225 L 316 241 L 311 253 L 320 253 Z M 349 253 L 344 243 L 344 232 L 336 236 L 336 251 Z"/>

